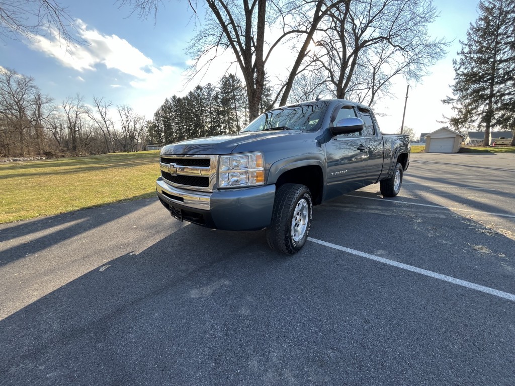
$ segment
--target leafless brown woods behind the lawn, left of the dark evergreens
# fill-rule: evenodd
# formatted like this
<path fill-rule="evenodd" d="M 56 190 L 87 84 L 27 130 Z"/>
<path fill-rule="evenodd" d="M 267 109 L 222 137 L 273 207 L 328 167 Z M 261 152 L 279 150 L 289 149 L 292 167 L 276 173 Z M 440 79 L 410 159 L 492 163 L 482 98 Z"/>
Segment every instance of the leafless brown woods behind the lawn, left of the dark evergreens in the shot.
<path fill-rule="evenodd" d="M 145 117 L 102 97 L 60 103 L 32 77 L 0 67 L 0 157 L 102 154 L 143 150 Z"/>

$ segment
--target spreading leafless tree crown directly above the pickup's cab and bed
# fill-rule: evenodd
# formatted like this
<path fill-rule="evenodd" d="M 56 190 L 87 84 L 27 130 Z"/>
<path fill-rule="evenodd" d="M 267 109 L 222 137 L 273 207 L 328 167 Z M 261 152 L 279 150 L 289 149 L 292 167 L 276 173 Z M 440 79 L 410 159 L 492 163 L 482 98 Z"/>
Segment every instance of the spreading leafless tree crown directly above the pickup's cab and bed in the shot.
<path fill-rule="evenodd" d="M 319 26 L 311 69 L 327 74 L 337 98 L 373 104 L 393 77 L 418 82 L 443 57 L 448 43 L 427 33 L 436 17 L 426 0 L 353 0 L 332 8 Z"/>

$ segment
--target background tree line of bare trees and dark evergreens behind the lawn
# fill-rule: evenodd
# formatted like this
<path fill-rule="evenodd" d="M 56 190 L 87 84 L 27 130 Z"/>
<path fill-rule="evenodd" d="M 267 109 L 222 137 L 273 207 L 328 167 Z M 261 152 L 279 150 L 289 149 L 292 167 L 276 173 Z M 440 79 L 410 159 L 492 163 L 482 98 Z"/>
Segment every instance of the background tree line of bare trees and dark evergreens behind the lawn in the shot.
<path fill-rule="evenodd" d="M 271 94 L 267 82 L 260 111 L 271 107 Z M 248 123 L 245 86 L 233 74 L 165 99 L 146 120 L 128 104 L 113 106 L 103 97 L 87 103 L 77 94 L 56 103 L 33 78 L 0 67 L 0 157 L 139 151 L 147 144 L 234 134 Z"/>

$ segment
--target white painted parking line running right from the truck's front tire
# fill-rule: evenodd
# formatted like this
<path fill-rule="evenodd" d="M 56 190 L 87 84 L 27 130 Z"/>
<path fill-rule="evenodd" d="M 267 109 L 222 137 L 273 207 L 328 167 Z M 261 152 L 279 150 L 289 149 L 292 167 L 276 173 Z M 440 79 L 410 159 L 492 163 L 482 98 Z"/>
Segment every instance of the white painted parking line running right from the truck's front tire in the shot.
<path fill-rule="evenodd" d="M 457 279 L 457 278 L 452 277 L 452 276 L 442 275 L 440 273 L 436 273 L 436 272 L 433 272 L 433 271 L 427 271 L 427 270 L 422 269 L 422 268 L 408 266 L 407 264 L 402 264 L 402 262 L 388 260 L 388 259 L 385 259 L 383 257 L 379 257 L 379 256 L 375 256 L 375 255 L 370 255 L 370 254 L 365 253 L 365 252 L 360 252 L 360 251 L 356 251 L 356 250 L 353 250 L 353 249 L 350 249 L 350 248 L 341 247 L 340 245 L 336 245 L 336 244 L 332 244 L 330 242 L 325 242 L 325 241 L 322 241 L 322 240 L 314 239 L 313 237 L 308 237 L 307 239 L 312 241 L 312 242 L 316 242 L 318 244 L 324 245 L 325 247 L 336 249 L 338 251 L 352 253 L 353 255 L 357 255 L 357 256 L 365 257 L 367 259 L 379 261 L 379 262 L 382 262 L 384 264 L 388 264 L 388 265 L 393 266 L 393 267 L 405 269 L 405 270 L 411 271 L 411 272 L 416 272 L 416 273 L 419 273 L 419 274 L 425 275 L 425 276 L 430 276 L 430 277 L 433 277 L 435 279 L 443 280 L 444 282 L 449 282 L 449 283 L 452 283 L 452 284 L 456 284 L 458 286 L 474 289 L 476 291 L 481 291 L 481 292 L 489 293 L 490 295 L 499 296 L 499 297 L 502 297 L 503 299 L 507 299 L 507 300 L 511 300 L 512 302 L 515 302 L 515 295 L 513 295 L 511 293 L 508 293 L 508 292 L 499 291 L 499 290 L 496 290 L 496 289 L 493 289 L 493 288 L 490 288 L 490 287 L 480 286 L 478 284 L 466 282 L 465 280 L 460 280 L 460 279 Z"/>

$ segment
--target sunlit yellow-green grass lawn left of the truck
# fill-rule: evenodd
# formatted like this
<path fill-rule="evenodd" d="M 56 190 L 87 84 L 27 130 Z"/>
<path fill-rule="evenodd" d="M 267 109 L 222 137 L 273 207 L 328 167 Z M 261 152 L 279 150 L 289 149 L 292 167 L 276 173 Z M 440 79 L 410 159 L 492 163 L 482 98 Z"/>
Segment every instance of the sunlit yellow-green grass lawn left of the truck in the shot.
<path fill-rule="evenodd" d="M 0 164 L 0 223 L 152 197 L 159 150 Z"/>

